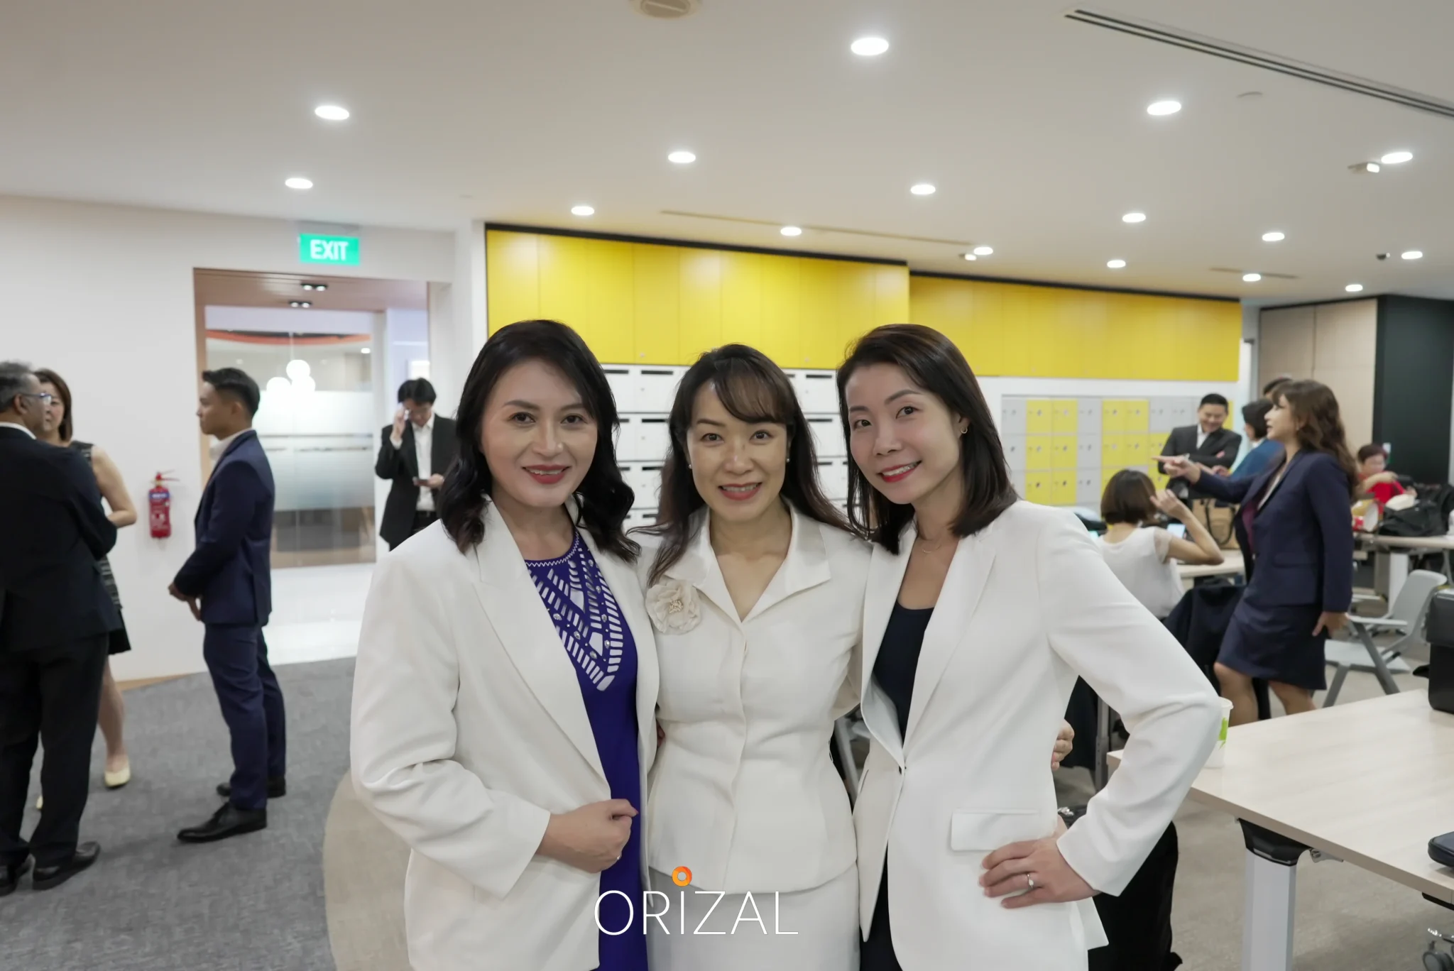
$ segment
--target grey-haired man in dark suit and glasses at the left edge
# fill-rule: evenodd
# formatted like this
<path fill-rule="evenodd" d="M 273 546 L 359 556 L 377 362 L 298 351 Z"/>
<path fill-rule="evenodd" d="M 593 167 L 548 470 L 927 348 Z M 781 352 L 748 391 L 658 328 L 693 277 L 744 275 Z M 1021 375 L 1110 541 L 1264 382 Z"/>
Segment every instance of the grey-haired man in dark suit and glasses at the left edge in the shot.
<path fill-rule="evenodd" d="M 49 890 L 100 853 L 77 840 L 106 635 L 121 625 L 96 567 L 116 528 L 80 452 L 36 440 L 47 398 L 28 366 L 0 363 L 0 897 L 31 858 L 33 887 Z M 36 741 L 45 808 L 26 842 Z"/>

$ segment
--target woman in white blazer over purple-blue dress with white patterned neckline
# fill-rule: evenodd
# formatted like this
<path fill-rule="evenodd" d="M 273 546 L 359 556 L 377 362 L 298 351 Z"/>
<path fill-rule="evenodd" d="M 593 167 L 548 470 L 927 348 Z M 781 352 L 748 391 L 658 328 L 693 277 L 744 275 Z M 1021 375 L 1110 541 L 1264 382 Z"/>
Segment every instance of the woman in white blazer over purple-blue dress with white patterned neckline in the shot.
<path fill-rule="evenodd" d="M 656 648 L 615 424 L 574 331 L 496 331 L 464 387 L 441 522 L 375 568 L 353 785 L 409 843 L 422 971 L 646 971 Z"/>

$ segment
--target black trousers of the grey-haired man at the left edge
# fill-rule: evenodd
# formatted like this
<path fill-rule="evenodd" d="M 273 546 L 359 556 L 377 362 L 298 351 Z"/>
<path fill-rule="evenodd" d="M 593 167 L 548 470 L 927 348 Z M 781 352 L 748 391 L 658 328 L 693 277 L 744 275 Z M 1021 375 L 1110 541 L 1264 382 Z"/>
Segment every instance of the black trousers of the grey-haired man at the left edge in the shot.
<path fill-rule="evenodd" d="M 0 863 L 33 856 L 36 866 L 76 853 L 90 789 L 90 750 L 106 670 L 105 634 L 60 648 L 0 654 Z M 20 818 L 36 743 L 45 744 L 45 808 L 29 840 Z"/>

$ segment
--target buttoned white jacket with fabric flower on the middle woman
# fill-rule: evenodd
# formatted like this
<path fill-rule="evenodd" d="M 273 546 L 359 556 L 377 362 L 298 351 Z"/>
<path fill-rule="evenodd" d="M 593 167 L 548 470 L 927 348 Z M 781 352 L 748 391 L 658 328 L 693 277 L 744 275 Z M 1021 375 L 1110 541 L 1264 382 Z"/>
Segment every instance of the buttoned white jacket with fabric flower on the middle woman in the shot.
<path fill-rule="evenodd" d="M 699 622 L 663 632 L 657 717 L 666 741 L 651 769 L 647 858 L 724 893 L 820 887 L 853 865 L 853 820 L 829 757 L 833 720 L 858 701 L 868 547 L 792 512 L 788 555 L 739 619 L 708 513 L 663 581 L 647 592 L 695 602 Z M 660 539 L 637 561 L 643 584 Z M 670 626 L 667 625 L 667 629 Z"/>

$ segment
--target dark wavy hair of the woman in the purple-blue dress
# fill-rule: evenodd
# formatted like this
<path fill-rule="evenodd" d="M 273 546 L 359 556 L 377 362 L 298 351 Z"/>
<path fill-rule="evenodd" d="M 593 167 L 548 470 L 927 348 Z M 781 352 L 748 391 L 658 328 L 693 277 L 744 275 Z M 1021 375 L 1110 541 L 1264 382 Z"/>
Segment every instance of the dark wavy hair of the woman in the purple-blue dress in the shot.
<path fill-rule="evenodd" d="M 474 359 L 455 416 L 459 456 L 449 467 L 443 488 L 439 490 L 439 519 L 445 532 L 459 547 L 459 552 L 484 539 L 484 506 L 494 487 L 494 477 L 480 451 L 484 408 L 505 372 L 526 360 L 541 360 L 560 371 L 580 392 L 586 411 L 599 429 L 596 454 L 586 470 L 586 478 L 576 490 L 576 525 L 590 532 L 599 549 L 634 561 L 641 548 L 627 538 L 622 528 L 635 496 L 616 467 L 616 400 L 606 382 L 606 372 L 601 369 L 586 342 L 554 320 L 522 320 L 502 327 L 490 334 Z"/>

